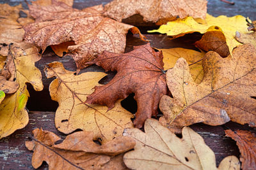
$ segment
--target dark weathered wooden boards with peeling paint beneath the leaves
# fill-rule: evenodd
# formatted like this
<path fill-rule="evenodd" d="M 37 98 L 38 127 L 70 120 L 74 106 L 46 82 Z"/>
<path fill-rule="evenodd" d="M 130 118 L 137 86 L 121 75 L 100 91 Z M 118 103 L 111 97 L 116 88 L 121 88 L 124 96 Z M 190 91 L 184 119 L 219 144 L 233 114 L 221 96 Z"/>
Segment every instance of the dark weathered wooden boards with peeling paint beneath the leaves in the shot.
<path fill-rule="evenodd" d="M 106 4 L 111 0 L 75 0 L 74 8 L 86 8 L 88 6 L 93 6 L 97 4 Z M 0 3 L 9 3 L 12 5 L 17 5 L 19 3 L 24 3 L 24 0 L 0 0 Z M 235 5 L 225 4 L 220 0 L 211 0 L 208 3 L 208 12 L 211 15 L 243 15 L 244 17 L 250 17 L 252 20 L 256 20 L 256 1 L 234 1 Z M 141 25 L 140 25 L 141 26 Z M 186 48 L 194 48 L 193 42 L 200 38 L 200 34 L 188 35 L 185 38 L 179 38 L 175 40 L 168 39 L 167 36 L 161 34 L 147 34 L 147 29 L 152 29 L 153 27 L 140 27 L 141 32 L 147 36 L 150 40 L 150 44 L 156 48 L 171 48 L 186 46 Z M 143 45 L 145 42 L 141 41 L 138 36 L 132 34 L 127 35 L 127 48 L 125 52 L 132 50 L 132 46 Z M 31 131 L 35 128 L 43 128 L 44 130 L 52 131 L 61 138 L 65 138 L 65 134 L 58 132 L 54 126 L 54 111 L 58 107 L 58 103 L 51 101 L 49 96 L 48 87 L 54 78 L 47 80 L 43 73 L 45 64 L 52 61 L 63 62 L 66 69 L 70 71 L 76 71 L 76 64 L 74 60 L 69 56 L 63 58 L 57 57 L 52 53 L 51 48 L 48 48 L 44 53 L 42 59 L 36 63 L 36 66 L 42 71 L 44 90 L 42 92 L 35 92 L 31 86 L 29 86 L 29 102 L 27 108 L 31 111 L 29 112 L 29 124 L 24 128 L 14 132 L 11 136 L 7 138 L 0 139 L 0 169 L 33 169 L 31 166 L 32 152 L 26 149 L 25 141 L 29 140 L 29 136 L 32 136 Z M 81 73 L 85 71 L 104 71 L 102 68 L 97 66 L 90 66 Z M 108 82 L 114 73 L 109 73 L 102 83 Z M 132 97 L 125 101 L 134 102 Z M 125 104 L 124 104 L 125 105 Z M 126 104 L 129 105 L 129 104 Z M 129 108 L 133 113 L 136 108 Z M 204 139 L 205 143 L 210 146 L 216 155 L 217 164 L 227 157 L 228 155 L 236 155 L 239 157 L 239 150 L 236 146 L 235 141 L 230 138 L 225 137 L 224 129 L 230 128 L 232 130 L 243 129 L 252 132 L 256 132 L 256 129 L 250 128 L 248 126 L 235 124 L 228 122 L 222 126 L 211 127 L 204 124 L 196 124 L 191 126 L 196 132 L 198 132 Z M 44 163 L 39 169 L 47 169 L 47 164 Z"/>

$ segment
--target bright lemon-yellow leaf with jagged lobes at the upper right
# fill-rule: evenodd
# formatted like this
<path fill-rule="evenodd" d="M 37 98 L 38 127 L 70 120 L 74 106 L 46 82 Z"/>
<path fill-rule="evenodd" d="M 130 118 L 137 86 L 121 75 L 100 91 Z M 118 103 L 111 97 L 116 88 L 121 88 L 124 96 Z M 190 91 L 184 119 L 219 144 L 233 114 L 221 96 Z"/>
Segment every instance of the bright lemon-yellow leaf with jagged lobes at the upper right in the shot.
<path fill-rule="evenodd" d="M 230 53 L 232 53 L 233 48 L 237 45 L 241 45 L 241 43 L 236 41 L 236 31 L 242 32 L 243 34 L 248 33 L 246 20 L 241 15 L 234 17 L 227 17 L 224 15 L 212 17 L 209 14 L 206 15 L 205 24 L 199 24 L 193 17 L 186 17 L 184 19 L 168 22 L 166 25 L 161 25 L 159 29 L 148 32 L 160 32 L 161 34 L 167 34 L 173 38 L 178 38 L 184 36 L 184 34 L 193 32 L 204 34 L 212 26 L 223 32 Z"/>

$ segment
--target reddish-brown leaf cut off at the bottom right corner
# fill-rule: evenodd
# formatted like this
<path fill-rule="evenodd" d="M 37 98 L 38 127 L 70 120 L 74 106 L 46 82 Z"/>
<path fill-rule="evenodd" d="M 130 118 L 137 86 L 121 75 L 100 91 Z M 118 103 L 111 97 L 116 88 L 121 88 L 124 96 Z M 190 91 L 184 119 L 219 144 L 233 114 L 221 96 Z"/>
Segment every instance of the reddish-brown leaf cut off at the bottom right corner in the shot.
<path fill-rule="evenodd" d="M 226 136 L 234 139 L 241 153 L 242 169 L 256 169 L 256 136 L 250 131 L 226 130 Z"/>

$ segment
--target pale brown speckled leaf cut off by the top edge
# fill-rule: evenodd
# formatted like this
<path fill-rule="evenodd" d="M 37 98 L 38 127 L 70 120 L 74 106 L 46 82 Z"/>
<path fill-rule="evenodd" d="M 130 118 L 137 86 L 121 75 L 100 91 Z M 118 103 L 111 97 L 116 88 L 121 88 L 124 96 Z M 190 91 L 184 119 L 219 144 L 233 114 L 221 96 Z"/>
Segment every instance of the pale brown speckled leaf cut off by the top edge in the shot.
<path fill-rule="evenodd" d="M 205 18 L 207 1 L 185 1 L 185 0 L 114 0 L 104 6 L 105 15 L 122 22 L 122 19 L 140 14 L 145 22 L 159 22 L 163 24 L 169 20 L 175 20 L 192 16 L 194 18 Z"/>

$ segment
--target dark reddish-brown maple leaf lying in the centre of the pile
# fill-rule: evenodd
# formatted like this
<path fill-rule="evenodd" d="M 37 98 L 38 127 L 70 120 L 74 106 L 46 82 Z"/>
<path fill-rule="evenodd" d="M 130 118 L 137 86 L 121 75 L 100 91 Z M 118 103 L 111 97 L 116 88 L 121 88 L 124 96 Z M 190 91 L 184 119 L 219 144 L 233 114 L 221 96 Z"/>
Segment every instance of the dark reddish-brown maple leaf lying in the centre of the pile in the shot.
<path fill-rule="evenodd" d="M 117 73 L 108 84 L 96 86 L 86 103 L 106 105 L 111 109 L 118 99 L 134 93 L 138 104 L 136 127 L 142 127 L 147 118 L 157 115 L 159 100 L 166 94 L 162 52 L 155 52 L 147 43 L 134 46 L 134 50 L 124 54 L 105 51 L 90 63 Z"/>

